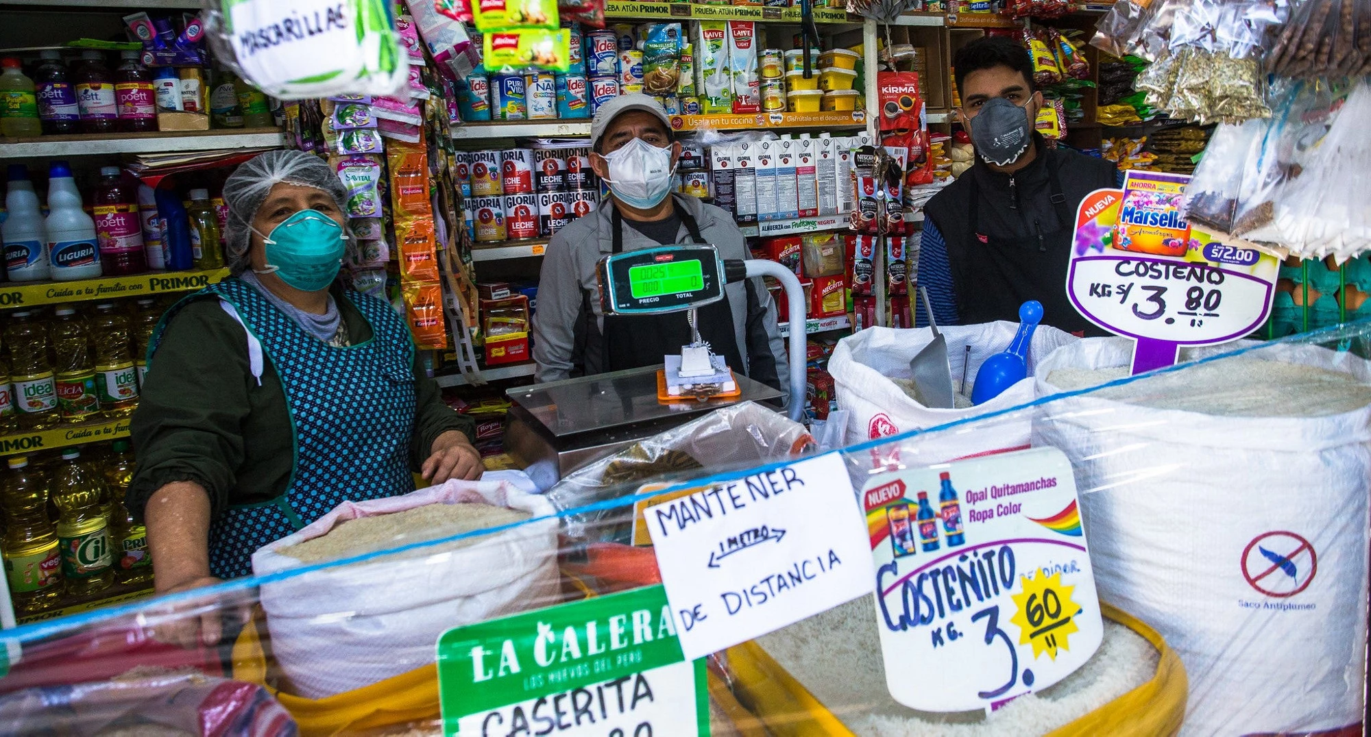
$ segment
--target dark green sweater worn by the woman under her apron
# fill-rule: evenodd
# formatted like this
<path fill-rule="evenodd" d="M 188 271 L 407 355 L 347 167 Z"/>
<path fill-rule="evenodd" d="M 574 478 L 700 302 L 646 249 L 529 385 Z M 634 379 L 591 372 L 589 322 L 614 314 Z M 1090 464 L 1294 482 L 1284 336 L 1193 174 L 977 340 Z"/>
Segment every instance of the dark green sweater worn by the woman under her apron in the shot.
<path fill-rule="evenodd" d="M 335 300 L 352 345 L 372 326 L 340 293 Z M 266 356 L 262 385 L 248 367 L 247 333 L 219 300 L 195 300 L 166 325 L 152 370 L 133 412 L 138 469 L 129 510 L 143 519 L 148 499 L 173 481 L 193 481 L 210 493 L 211 516 L 229 505 L 269 501 L 285 493 L 295 437 L 281 379 Z M 470 418 L 443 403 L 440 389 L 414 359 L 414 432 L 410 466 L 418 470 L 433 440 L 447 430 L 474 434 Z M 347 469 L 340 469 L 347 475 Z"/>

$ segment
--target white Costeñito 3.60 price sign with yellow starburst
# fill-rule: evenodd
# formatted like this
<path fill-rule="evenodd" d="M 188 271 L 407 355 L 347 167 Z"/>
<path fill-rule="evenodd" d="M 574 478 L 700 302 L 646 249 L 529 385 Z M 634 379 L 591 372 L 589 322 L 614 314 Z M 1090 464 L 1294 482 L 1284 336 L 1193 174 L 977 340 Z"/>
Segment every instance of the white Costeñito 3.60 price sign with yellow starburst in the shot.
<path fill-rule="evenodd" d="M 861 503 L 886 686 L 901 704 L 991 711 L 1100 647 L 1075 477 L 1056 448 L 884 473 Z"/>

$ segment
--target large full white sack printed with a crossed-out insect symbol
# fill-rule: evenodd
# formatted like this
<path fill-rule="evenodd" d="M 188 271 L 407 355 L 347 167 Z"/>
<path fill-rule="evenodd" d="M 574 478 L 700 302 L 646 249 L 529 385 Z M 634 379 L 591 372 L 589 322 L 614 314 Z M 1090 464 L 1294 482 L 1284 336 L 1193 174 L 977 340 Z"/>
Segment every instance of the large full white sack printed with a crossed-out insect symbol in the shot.
<path fill-rule="evenodd" d="M 1130 360 L 1128 340 L 1083 340 L 1039 363 L 1038 393 Z M 1274 344 L 1038 412 L 1034 445 L 1076 470 L 1100 597 L 1185 662 L 1183 734 L 1361 721 L 1368 385 L 1352 353 Z"/>

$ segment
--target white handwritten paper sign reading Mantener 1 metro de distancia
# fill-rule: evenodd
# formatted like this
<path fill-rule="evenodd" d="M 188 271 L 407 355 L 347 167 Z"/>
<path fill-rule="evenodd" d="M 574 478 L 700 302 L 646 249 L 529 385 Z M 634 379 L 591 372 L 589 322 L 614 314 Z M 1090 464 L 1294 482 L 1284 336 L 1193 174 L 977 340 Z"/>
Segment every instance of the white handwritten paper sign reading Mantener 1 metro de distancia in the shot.
<path fill-rule="evenodd" d="M 686 658 L 871 593 L 861 511 L 838 453 L 692 490 L 643 516 Z"/>

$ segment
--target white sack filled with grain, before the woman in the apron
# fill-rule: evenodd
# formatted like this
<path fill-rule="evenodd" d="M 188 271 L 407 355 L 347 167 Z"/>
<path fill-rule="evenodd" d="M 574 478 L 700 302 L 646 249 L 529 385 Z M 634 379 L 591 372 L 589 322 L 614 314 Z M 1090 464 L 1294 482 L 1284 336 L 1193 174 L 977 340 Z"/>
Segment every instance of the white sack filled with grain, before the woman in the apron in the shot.
<path fill-rule="evenodd" d="M 435 508 L 439 504 L 472 504 L 473 514 L 457 525 L 451 510 Z M 448 481 L 391 499 L 344 501 L 252 553 L 252 573 L 266 575 L 553 514 L 542 496 L 506 482 Z M 413 529 L 399 538 L 378 537 L 377 530 L 398 522 L 378 515 L 404 515 L 402 523 Z M 358 527 L 347 533 L 354 549 L 344 552 L 325 536 L 348 525 Z M 260 597 L 288 690 L 322 699 L 432 663 L 444 630 L 546 605 L 557 590 L 557 519 L 550 518 L 263 584 Z"/>

